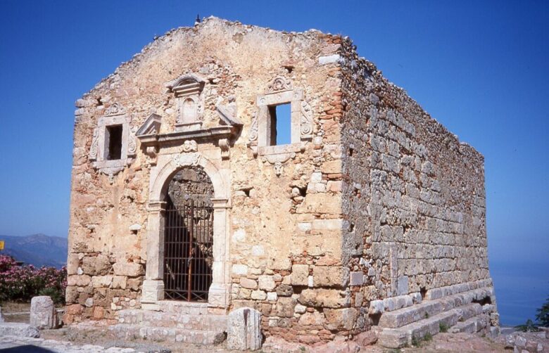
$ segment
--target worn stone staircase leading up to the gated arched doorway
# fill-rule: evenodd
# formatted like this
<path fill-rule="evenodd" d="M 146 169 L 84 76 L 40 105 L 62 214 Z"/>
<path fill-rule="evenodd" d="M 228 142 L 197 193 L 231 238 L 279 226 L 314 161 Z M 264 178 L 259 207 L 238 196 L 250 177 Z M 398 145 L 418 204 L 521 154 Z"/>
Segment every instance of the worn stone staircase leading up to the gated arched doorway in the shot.
<path fill-rule="evenodd" d="M 208 313 L 206 303 L 159 302 L 154 310 L 126 309 L 109 326 L 117 338 L 217 345 L 225 340 L 227 316 Z"/>

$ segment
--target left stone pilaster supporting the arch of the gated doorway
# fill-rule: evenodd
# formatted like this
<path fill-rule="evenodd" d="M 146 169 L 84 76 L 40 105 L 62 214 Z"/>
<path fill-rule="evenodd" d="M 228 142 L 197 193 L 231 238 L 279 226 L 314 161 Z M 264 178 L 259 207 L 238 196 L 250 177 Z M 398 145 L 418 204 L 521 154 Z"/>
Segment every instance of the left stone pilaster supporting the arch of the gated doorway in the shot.
<path fill-rule="evenodd" d="M 164 299 L 164 211 L 163 201 L 149 202 L 147 222 L 147 264 L 141 294 L 142 303 L 154 303 Z"/>

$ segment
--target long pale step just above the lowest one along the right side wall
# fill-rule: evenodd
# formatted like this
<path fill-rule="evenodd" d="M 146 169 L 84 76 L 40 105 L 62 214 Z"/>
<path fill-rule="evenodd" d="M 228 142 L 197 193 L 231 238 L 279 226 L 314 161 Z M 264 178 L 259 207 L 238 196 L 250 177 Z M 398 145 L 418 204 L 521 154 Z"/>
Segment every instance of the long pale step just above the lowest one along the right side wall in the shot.
<path fill-rule="evenodd" d="M 437 300 L 424 300 L 412 307 L 405 307 L 393 312 L 384 312 L 379 318 L 378 325 L 383 328 L 399 328 L 422 319 L 428 319 L 441 312 L 448 312 L 448 310 L 456 307 L 462 307 L 473 300 L 481 300 L 489 296 L 489 293 L 491 293 L 489 290 L 490 288 L 469 290 L 468 292 L 448 295 Z"/>

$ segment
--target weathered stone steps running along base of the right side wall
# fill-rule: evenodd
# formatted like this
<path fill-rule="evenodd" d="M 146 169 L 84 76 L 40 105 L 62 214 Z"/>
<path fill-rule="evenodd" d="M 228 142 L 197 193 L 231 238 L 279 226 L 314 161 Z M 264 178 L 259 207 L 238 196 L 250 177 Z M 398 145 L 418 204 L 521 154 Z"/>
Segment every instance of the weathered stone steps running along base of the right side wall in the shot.
<path fill-rule="evenodd" d="M 388 348 L 401 348 L 437 333 L 491 333 L 492 304 L 480 304 L 493 295 L 492 288 L 477 288 L 463 293 L 422 300 L 409 307 L 383 312 L 374 326 L 378 342 Z M 496 329 L 496 328 L 493 328 Z"/>

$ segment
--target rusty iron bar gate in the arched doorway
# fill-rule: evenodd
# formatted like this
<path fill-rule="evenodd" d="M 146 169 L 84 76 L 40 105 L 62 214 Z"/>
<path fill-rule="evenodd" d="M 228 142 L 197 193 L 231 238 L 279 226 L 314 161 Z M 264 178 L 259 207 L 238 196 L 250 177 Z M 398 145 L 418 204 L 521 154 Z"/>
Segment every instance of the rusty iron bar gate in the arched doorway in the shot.
<path fill-rule="evenodd" d="M 207 302 L 212 283 L 213 207 L 193 199 L 174 205 L 164 224 L 164 293 L 166 299 Z"/>

